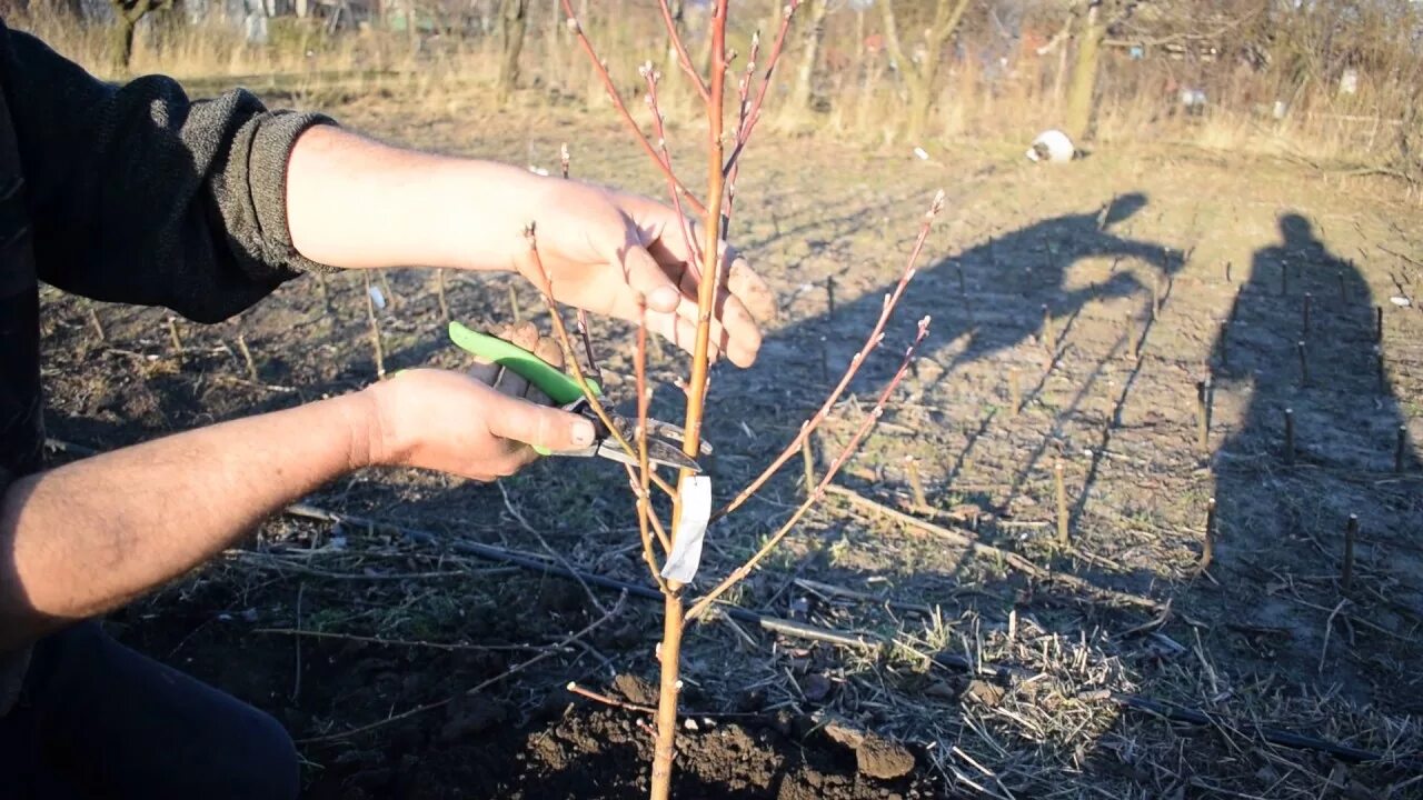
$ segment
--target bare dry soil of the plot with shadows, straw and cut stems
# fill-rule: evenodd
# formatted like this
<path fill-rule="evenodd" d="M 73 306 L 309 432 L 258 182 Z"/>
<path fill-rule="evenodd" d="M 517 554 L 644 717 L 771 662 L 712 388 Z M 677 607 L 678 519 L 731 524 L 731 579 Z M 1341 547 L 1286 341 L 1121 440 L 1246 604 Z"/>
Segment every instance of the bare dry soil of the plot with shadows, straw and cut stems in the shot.
<path fill-rule="evenodd" d="M 605 114 L 485 108 L 384 98 L 337 111 L 393 140 L 545 168 L 568 141 L 578 175 L 659 189 Z M 817 443 L 821 463 L 834 456 L 914 320 L 932 315 L 932 346 L 840 480 L 854 495 L 827 500 L 736 598 L 887 643 L 699 626 L 679 796 L 1423 797 L 1419 209 L 1385 182 L 1231 154 L 1097 152 L 1056 169 L 1020 154 L 983 145 L 919 161 L 810 138 L 748 155 L 734 239 L 776 286 L 781 319 L 753 370 L 713 380 L 727 495 L 858 349 L 935 188 L 949 205 L 884 350 Z M 386 367 L 457 366 L 434 276 L 384 279 Z M 534 313 L 534 292 L 499 276 L 450 276 L 448 303 L 471 325 L 507 320 L 511 288 Z M 166 319 L 47 296 L 55 438 L 110 448 L 374 379 L 360 276 L 330 276 L 324 298 L 297 280 L 218 326 L 179 320 L 181 357 Z M 618 391 L 629 330 L 595 333 Z M 666 350 L 655 364 L 659 416 L 677 419 L 677 362 Z M 1208 373 L 1205 451 L 1197 381 Z M 1066 548 L 1054 544 L 1059 460 Z M 713 528 L 704 575 L 739 564 L 788 514 L 797 464 Z M 1201 572 L 1212 497 L 1218 535 Z M 640 715 L 564 685 L 640 699 L 632 678 L 655 676 L 660 604 L 618 605 L 615 592 L 464 547 L 640 584 L 620 471 L 546 461 L 502 485 L 369 471 L 310 504 L 435 535 L 280 517 L 111 628 L 280 717 L 306 740 L 312 797 L 643 791 Z M 1360 527 L 1345 591 L 1349 514 Z M 545 658 L 481 686 L 531 656 Z M 1124 709 L 1127 696 L 1211 716 L 1173 722 Z M 832 742 L 845 720 L 905 743 L 916 769 L 875 777 L 898 770 Z M 1262 727 L 1382 760 L 1281 747 Z"/>

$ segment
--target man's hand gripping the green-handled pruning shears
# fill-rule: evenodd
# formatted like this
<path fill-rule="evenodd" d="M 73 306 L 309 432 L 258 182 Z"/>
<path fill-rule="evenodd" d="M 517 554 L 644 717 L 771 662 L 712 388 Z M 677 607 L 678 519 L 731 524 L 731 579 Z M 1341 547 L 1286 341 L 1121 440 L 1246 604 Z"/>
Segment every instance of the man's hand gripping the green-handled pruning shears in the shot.
<path fill-rule="evenodd" d="M 558 344 L 541 339 L 534 323 L 494 333 L 555 367 L 564 366 Z M 370 448 L 376 464 L 492 481 L 536 458 L 532 446 L 558 451 L 593 443 L 592 423 L 549 407 L 542 391 L 491 363 L 475 364 L 468 374 L 403 372 L 366 391 L 376 406 Z"/>

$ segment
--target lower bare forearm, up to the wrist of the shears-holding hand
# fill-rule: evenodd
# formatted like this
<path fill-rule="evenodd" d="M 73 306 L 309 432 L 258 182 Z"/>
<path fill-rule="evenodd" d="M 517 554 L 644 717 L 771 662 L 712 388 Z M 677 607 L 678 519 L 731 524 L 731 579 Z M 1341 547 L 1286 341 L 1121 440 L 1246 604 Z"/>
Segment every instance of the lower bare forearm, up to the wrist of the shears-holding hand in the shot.
<path fill-rule="evenodd" d="M 370 463 L 364 393 L 85 458 L 0 498 L 0 652 L 122 605 Z"/>

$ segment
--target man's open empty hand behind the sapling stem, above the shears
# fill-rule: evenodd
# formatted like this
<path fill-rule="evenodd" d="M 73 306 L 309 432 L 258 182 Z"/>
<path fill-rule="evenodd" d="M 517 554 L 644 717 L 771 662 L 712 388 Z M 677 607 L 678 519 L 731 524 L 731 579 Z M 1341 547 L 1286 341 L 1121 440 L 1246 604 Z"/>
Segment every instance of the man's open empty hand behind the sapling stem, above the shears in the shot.
<path fill-rule="evenodd" d="M 593 313 L 638 322 L 638 299 L 646 298 L 647 327 L 692 352 L 697 329 L 702 280 L 692 269 L 686 231 L 666 205 L 581 184 L 545 179 L 532 204 L 538 252 L 554 299 Z M 704 246 L 702 226 L 692 225 L 693 246 Z M 712 356 L 726 354 L 747 367 L 761 346 L 758 322 L 776 316 L 776 298 L 734 251 L 719 288 L 712 320 Z M 707 260 L 710 272 L 713 262 Z M 524 276 L 532 263 L 518 259 Z"/>

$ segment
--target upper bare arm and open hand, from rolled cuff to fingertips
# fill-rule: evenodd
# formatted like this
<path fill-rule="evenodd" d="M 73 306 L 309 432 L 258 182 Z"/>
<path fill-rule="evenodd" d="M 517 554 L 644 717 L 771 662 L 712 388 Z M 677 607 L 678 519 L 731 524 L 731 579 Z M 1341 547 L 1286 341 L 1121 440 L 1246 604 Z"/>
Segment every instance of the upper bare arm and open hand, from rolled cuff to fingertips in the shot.
<path fill-rule="evenodd" d="M 319 125 L 292 148 L 286 226 L 306 259 L 339 268 L 437 266 L 529 273 L 524 231 L 538 235 L 554 296 L 593 313 L 639 320 L 690 347 L 700 279 L 689 270 L 683 221 L 666 205 L 612 189 L 541 178 L 527 169 L 390 147 Z M 694 223 L 692 223 L 694 226 Z M 731 253 L 713 344 L 748 366 L 761 344 L 756 319 L 774 295 Z"/>

